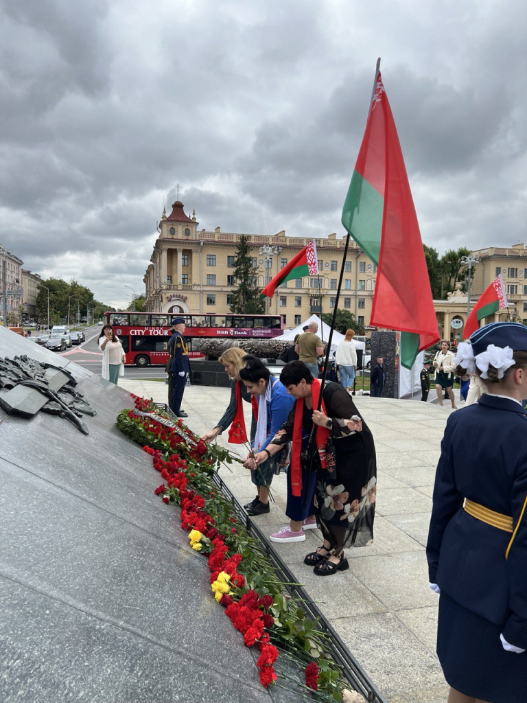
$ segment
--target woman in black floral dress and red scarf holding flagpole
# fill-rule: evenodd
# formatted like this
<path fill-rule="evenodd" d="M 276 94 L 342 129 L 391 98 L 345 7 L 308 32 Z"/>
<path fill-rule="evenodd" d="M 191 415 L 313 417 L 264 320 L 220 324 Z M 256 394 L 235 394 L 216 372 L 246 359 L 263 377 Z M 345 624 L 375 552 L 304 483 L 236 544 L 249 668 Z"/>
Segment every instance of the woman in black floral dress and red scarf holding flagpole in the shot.
<path fill-rule="evenodd" d="M 287 510 L 299 509 L 302 504 L 309 506 L 315 491 L 315 515 L 324 542 L 306 556 L 304 563 L 313 566 L 318 576 L 329 576 L 349 567 L 344 549 L 367 546 L 373 539 L 375 445 L 351 396 L 339 383 L 325 384 L 318 411 L 320 381 L 313 378 L 304 363 L 288 363 L 280 380 L 296 402 L 287 422 L 268 445 L 268 453 L 272 456 L 289 441 L 293 443 L 287 473 Z M 316 430 L 312 448 L 309 437 L 313 424 Z M 328 465 L 327 459 L 332 457 L 328 457 L 327 449 L 331 455 L 333 442 L 334 463 L 330 460 Z M 265 455 L 259 453 L 255 458 L 259 463 Z"/>

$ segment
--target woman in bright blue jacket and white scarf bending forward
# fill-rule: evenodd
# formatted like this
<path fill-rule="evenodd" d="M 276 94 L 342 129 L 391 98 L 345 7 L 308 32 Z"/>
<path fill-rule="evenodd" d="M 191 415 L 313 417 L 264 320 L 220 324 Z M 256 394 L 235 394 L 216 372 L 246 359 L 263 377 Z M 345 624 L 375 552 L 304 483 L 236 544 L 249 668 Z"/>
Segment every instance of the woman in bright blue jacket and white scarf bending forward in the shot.
<path fill-rule="evenodd" d="M 263 456 L 259 463 L 255 463 L 253 454 L 247 456 L 245 468 L 251 470 L 251 480 L 258 489 L 256 498 L 245 506 L 249 515 L 262 515 L 269 512 L 269 491 L 273 475 L 278 467 L 278 456 L 271 458 L 267 447 L 271 439 L 287 420 L 293 399 L 289 397 L 286 389 L 276 379 L 261 359 L 248 354 L 243 357 L 245 367 L 240 369 L 240 378 L 247 391 L 258 400 L 254 410 L 256 422 L 253 417 L 251 427 L 251 446 L 254 453 Z M 282 449 L 282 447 L 280 447 Z"/>

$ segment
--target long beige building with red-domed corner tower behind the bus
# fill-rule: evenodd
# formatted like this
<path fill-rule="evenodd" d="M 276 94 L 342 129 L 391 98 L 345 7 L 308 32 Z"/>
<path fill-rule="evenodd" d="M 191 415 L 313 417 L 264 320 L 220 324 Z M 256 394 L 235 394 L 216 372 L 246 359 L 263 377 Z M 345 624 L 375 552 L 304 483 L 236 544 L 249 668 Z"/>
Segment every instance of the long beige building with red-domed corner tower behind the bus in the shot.
<path fill-rule="evenodd" d="M 167 216 L 163 212 L 159 236 L 143 278 L 145 310 L 164 314 L 224 314 L 230 309 L 235 288 L 235 247 L 240 233 L 199 230 L 193 212 L 189 217 L 179 201 Z M 256 268 L 254 285 L 263 288 L 310 239 L 246 235 Z M 268 302 L 268 313 L 284 317 L 285 327 L 296 327 L 313 313 L 334 309 L 345 239 L 336 234 L 315 239 L 319 276 L 289 280 Z M 351 243 L 346 257 L 339 308 L 349 310 L 367 325 L 372 310 L 377 266 L 363 250 Z"/>

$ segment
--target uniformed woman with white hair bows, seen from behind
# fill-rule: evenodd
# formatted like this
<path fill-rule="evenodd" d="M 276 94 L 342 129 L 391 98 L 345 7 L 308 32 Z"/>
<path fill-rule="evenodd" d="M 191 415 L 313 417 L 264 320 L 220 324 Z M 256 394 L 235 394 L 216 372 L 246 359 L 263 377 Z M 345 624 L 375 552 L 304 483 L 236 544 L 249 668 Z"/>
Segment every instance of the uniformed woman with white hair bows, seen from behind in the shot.
<path fill-rule="evenodd" d="M 457 361 L 486 392 L 448 418 L 427 543 L 448 703 L 527 702 L 527 328 L 493 323 Z"/>

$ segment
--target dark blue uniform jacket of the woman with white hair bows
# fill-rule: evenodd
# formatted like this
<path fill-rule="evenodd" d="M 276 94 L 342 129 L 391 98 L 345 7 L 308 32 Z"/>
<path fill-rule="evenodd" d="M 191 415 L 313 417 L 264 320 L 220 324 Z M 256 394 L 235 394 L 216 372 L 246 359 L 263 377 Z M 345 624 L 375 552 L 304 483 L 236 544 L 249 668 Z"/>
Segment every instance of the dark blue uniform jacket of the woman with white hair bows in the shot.
<path fill-rule="evenodd" d="M 512 516 L 514 533 L 469 515 L 464 498 Z M 527 415 L 513 400 L 484 394 L 448 418 L 427 543 L 429 579 L 527 649 L 526 503 Z"/>

